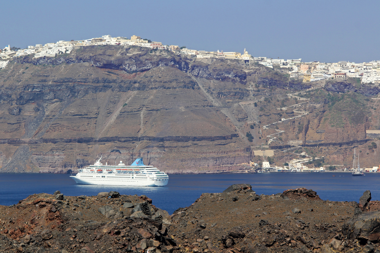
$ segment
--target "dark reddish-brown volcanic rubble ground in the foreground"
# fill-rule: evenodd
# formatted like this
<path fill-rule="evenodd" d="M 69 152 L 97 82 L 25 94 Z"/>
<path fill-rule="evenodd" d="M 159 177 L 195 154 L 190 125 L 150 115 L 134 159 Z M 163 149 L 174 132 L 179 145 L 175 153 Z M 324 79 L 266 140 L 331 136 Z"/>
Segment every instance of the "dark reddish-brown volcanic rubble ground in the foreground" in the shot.
<path fill-rule="evenodd" d="M 41 193 L 0 206 L 0 252 L 380 252 L 379 203 L 359 202 L 239 184 L 170 216 L 144 195 Z"/>

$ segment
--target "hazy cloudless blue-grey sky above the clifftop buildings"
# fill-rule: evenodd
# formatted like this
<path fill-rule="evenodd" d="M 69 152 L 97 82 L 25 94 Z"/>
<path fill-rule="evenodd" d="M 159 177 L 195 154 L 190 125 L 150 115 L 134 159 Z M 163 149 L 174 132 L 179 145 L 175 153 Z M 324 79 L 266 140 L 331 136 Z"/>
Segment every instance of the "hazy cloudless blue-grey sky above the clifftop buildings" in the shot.
<path fill-rule="evenodd" d="M 101 35 L 303 61 L 380 60 L 380 1 L 3 1 L 0 47 Z"/>

